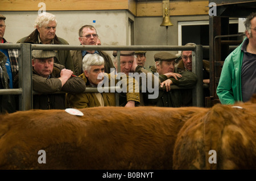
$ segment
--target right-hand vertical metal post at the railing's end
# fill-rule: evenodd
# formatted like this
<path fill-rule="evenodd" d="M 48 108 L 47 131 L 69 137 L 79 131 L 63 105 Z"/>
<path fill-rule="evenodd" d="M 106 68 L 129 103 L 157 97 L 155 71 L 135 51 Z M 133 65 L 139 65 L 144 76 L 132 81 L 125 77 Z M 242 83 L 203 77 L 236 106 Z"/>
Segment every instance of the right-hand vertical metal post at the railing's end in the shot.
<path fill-rule="evenodd" d="M 192 90 L 192 104 L 196 107 L 204 107 L 202 45 L 196 45 L 195 51 L 192 51 L 192 72 L 197 75 L 196 87 Z"/>

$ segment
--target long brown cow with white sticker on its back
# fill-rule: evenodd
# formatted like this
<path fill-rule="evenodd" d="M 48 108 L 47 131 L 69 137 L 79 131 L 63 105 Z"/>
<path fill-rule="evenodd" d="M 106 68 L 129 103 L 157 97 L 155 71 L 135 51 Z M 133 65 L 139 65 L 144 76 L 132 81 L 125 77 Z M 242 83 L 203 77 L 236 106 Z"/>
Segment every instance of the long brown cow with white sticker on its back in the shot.
<path fill-rule="evenodd" d="M 177 133 L 189 117 L 208 109 L 80 111 L 84 116 L 64 110 L 0 115 L 0 169 L 172 169 Z"/>

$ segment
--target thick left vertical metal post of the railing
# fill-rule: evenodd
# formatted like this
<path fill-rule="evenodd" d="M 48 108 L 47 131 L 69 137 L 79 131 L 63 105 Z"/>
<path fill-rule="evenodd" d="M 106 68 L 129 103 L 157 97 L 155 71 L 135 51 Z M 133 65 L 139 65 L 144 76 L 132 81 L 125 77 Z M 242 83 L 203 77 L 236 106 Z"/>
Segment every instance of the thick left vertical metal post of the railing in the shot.
<path fill-rule="evenodd" d="M 19 95 L 19 110 L 31 110 L 33 107 L 31 44 L 22 43 L 19 51 L 19 88 L 22 89 L 22 94 Z"/>

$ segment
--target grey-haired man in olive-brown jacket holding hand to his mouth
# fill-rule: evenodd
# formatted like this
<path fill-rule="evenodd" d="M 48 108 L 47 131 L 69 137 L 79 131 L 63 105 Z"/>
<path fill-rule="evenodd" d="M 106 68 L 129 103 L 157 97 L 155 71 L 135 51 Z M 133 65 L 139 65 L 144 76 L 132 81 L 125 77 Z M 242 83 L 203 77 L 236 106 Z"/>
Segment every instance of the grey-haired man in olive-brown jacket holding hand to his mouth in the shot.
<path fill-rule="evenodd" d="M 118 79 L 116 79 L 116 75 L 105 73 L 104 62 L 104 58 L 98 54 L 86 54 L 84 56 L 82 60 L 84 73 L 81 74 L 80 77 L 82 77 L 86 86 L 99 88 L 102 87 L 102 81 L 106 81 L 108 86 L 109 83 L 110 85 L 111 83 L 114 83 L 114 85 L 117 84 Z M 127 90 L 129 90 L 125 93 L 126 100 L 123 104 L 125 104 L 125 107 L 134 107 L 136 103 L 139 104 L 140 102 L 139 90 L 137 90 L 136 87 L 130 87 L 129 81 L 134 81 L 134 79 L 128 79 L 127 82 L 122 81 L 127 84 Z M 134 82 L 134 84 L 131 83 L 131 85 L 138 86 L 136 85 L 136 82 Z M 84 92 L 81 94 L 67 94 L 67 102 L 68 106 L 73 108 L 115 106 L 115 93 Z"/>

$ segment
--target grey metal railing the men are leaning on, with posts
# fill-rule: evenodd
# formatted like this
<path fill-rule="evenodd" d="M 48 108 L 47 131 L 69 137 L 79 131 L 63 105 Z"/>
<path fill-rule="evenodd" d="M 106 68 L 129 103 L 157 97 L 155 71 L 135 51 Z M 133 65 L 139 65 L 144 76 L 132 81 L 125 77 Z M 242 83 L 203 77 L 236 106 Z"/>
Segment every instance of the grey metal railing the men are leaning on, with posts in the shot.
<path fill-rule="evenodd" d="M 31 50 L 117 50 L 118 69 L 120 68 L 121 50 L 146 50 L 146 51 L 175 51 L 192 50 L 192 72 L 197 75 L 197 83 L 192 90 L 192 105 L 196 107 L 204 106 L 203 98 L 203 46 L 151 46 L 151 45 L 130 45 L 130 46 L 95 46 L 95 45 L 42 45 L 42 44 L 0 44 L 1 49 L 19 50 L 19 89 L 1 89 L 0 95 L 18 94 L 19 110 L 32 109 L 32 64 Z M 119 72 L 119 71 L 118 71 Z M 180 89 L 177 86 L 171 86 L 171 89 Z M 97 88 L 86 88 L 85 92 L 97 92 Z"/>

